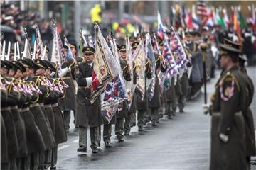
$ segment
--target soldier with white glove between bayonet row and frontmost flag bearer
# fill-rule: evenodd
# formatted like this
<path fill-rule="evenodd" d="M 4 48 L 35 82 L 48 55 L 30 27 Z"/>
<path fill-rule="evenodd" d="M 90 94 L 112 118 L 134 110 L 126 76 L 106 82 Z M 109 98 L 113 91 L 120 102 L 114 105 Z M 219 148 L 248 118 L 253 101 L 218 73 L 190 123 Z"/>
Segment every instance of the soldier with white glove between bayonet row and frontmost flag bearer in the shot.
<path fill-rule="evenodd" d="M 64 45 L 65 52 L 68 50 L 68 47 Z M 70 129 L 70 112 L 73 111 L 75 118 L 75 84 L 73 82 L 74 75 L 72 74 L 73 68 L 75 67 L 74 59 L 67 59 L 67 62 L 62 64 L 62 79 L 65 81 L 65 84 L 68 84 L 69 88 L 65 89 L 65 96 L 59 99 L 59 106 L 63 111 L 65 119 L 65 128 L 66 132 L 69 132 Z M 74 120 L 75 123 L 75 120 Z"/>

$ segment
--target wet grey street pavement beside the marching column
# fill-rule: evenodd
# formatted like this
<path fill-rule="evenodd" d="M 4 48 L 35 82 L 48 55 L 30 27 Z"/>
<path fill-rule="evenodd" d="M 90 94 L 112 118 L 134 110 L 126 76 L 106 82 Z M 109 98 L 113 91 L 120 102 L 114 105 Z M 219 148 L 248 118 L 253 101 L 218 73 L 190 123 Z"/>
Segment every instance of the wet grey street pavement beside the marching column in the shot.
<path fill-rule="evenodd" d="M 254 84 L 256 84 L 255 70 L 255 67 L 248 68 Z M 219 75 L 219 72 L 216 75 Z M 216 81 L 217 78 L 208 83 L 208 98 L 214 90 L 213 86 Z M 124 142 L 117 142 L 113 125 L 113 147 L 105 148 L 102 142 L 102 150 L 98 154 L 92 154 L 90 147 L 87 148 L 87 154 L 76 151 L 78 130 L 75 130 L 72 125 L 68 134 L 68 142 L 58 146 L 57 168 L 63 170 L 209 169 L 210 116 L 203 114 L 202 103 L 203 95 L 201 94 L 196 100 L 187 103 L 186 113 L 177 113 L 172 120 L 161 119 L 161 123 L 156 128 L 147 124 L 143 132 L 138 132 L 137 127 L 132 128 L 131 135 L 125 137 Z M 254 118 L 256 118 L 255 100 L 252 105 Z M 90 141 L 88 141 L 88 146 L 90 146 Z"/>

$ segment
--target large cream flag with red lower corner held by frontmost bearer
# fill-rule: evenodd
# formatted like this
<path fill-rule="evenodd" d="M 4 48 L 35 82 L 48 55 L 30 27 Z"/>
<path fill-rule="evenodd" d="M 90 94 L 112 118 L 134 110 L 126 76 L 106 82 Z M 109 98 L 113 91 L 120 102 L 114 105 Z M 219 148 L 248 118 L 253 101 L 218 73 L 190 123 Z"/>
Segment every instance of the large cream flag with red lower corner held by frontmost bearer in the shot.
<path fill-rule="evenodd" d="M 117 62 L 98 26 L 96 36 L 97 46 L 93 60 L 91 103 L 95 102 L 105 86 L 119 74 L 119 69 L 116 67 Z"/>

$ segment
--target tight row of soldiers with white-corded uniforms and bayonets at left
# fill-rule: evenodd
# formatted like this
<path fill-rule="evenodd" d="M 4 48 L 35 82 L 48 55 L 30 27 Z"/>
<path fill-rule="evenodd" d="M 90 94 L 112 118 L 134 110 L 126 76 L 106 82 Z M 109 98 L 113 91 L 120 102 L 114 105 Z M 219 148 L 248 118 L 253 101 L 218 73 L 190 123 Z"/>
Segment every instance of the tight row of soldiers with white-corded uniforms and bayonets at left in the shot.
<path fill-rule="evenodd" d="M 58 100 L 68 85 L 55 63 L 13 55 L 1 60 L 1 169 L 56 169 L 58 144 L 67 141 Z"/>

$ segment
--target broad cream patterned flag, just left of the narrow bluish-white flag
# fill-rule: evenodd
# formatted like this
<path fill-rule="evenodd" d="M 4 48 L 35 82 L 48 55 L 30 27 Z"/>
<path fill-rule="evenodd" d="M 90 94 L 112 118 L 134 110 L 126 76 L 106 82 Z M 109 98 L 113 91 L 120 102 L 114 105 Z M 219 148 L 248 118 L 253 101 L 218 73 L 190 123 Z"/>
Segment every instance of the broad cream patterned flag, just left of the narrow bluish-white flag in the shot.
<path fill-rule="evenodd" d="M 146 64 L 146 54 L 144 50 L 143 41 L 140 40 L 138 47 L 132 55 L 132 60 L 137 66 L 137 89 L 139 90 L 142 99 L 145 95 L 145 64 Z"/>

